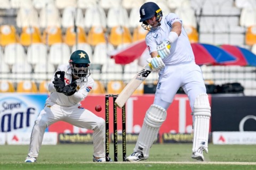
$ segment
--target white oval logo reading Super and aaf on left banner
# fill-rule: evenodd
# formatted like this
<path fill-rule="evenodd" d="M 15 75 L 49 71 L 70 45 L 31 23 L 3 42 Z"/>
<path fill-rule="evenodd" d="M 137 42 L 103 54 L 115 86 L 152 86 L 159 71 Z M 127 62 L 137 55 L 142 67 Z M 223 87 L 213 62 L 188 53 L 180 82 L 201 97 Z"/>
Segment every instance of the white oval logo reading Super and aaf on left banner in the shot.
<path fill-rule="evenodd" d="M 2 98 L 0 100 L 0 132 L 26 130 L 30 126 L 32 128 L 37 109 L 30 103 L 14 97 Z"/>

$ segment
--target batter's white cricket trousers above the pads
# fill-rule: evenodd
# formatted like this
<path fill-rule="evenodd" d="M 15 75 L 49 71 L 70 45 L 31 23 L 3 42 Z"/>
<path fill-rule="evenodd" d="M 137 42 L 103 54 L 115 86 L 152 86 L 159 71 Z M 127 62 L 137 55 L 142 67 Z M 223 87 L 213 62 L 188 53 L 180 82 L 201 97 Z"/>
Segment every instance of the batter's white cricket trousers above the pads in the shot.
<path fill-rule="evenodd" d="M 202 70 L 195 62 L 166 65 L 161 69 L 154 104 L 167 110 L 180 87 L 188 95 L 193 111 L 196 97 L 206 93 Z"/>

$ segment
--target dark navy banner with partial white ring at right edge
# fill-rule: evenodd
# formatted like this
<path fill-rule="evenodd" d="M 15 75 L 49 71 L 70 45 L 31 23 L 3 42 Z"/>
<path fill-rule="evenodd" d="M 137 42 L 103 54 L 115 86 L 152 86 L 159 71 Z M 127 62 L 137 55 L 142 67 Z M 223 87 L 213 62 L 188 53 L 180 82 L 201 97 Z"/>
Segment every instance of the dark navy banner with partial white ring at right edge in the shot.
<path fill-rule="evenodd" d="M 213 96 L 212 131 L 256 131 L 256 96 Z"/>

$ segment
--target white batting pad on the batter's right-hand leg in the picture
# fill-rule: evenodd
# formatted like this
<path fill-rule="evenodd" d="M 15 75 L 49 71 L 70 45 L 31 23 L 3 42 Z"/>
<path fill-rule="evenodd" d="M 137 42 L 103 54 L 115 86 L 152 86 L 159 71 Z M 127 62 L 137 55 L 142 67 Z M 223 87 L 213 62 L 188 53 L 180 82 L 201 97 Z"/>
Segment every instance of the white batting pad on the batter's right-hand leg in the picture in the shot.
<path fill-rule="evenodd" d="M 199 94 L 194 103 L 194 140 L 193 149 L 195 152 L 199 147 L 203 147 L 208 152 L 208 136 L 211 117 L 211 107 L 207 94 Z"/>

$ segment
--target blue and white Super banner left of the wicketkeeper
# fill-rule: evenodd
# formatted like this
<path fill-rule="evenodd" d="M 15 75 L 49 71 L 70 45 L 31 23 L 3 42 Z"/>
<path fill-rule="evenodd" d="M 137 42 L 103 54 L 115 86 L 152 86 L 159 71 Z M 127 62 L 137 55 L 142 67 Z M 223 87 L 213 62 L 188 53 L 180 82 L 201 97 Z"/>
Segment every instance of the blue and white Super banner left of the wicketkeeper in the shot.
<path fill-rule="evenodd" d="M 31 132 L 46 98 L 43 94 L 1 94 L 0 132 Z"/>

